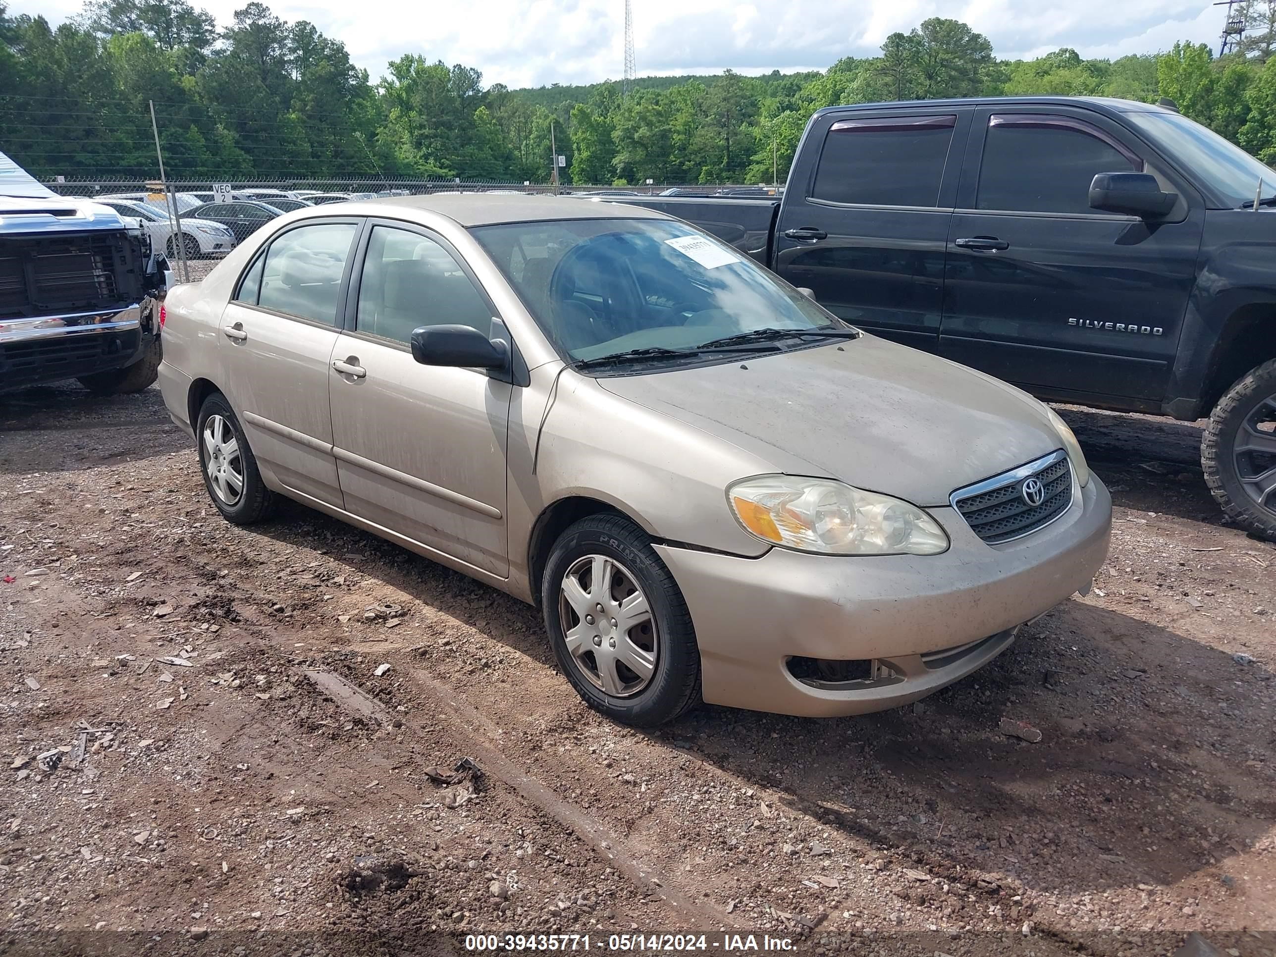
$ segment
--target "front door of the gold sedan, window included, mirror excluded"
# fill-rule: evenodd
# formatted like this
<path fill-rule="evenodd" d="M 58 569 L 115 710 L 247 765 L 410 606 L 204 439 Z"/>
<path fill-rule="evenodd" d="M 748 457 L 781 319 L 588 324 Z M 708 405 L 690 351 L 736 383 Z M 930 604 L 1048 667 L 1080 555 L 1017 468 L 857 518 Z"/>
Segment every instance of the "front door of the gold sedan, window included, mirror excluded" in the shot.
<path fill-rule="evenodd" d="M 412 359 L 412 330 L 495 311 L 435 234 L 374 223 L 352 293 L 353 322 L 329 371 L 333 445 L 346 509 L 504 578 L 505 438 L 512 387 L 478 369 Z"/>

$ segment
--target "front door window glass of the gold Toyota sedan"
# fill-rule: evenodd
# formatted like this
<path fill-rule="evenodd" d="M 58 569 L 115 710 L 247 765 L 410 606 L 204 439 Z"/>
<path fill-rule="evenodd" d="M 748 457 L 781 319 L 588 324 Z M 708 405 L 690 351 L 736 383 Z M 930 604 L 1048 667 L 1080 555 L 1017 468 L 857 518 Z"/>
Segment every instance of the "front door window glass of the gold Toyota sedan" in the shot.
<path fill-rule="evenodd" d="M 407 343 L 422 325 L 457 324 L 491 333 L 491 308 L 452 254 L 419 232 L 373 228 L 355 328 Z"/>

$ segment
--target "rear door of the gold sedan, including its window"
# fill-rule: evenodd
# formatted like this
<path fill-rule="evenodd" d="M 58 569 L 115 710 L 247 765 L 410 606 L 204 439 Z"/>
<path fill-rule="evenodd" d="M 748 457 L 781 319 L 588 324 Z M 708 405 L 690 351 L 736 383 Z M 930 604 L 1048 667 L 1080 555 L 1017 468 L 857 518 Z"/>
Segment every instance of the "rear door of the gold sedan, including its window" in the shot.
<path fill-rule="evenodd" d="M 279 485 L 342 507 L 328 375 L 356 219 L 306 222 L 273 239 L 222 313 L 218 383 L 258 464 Z"/>

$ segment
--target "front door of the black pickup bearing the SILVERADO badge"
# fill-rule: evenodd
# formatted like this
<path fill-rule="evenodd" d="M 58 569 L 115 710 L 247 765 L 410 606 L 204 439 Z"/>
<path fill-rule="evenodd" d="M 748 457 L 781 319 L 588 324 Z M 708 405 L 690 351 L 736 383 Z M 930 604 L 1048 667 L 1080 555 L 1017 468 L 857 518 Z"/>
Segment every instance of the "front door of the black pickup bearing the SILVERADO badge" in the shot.
<path fill-rule="evenodd" d="M 1179 205 L 1159 222 L 1091 209 L 1100 172 L 1150 172 Z M 1191 186 L 1096 112 L 980 108 L 948 234 L 940 353 L 1046 398 L 1156 406 L 1202 216 Z"/>

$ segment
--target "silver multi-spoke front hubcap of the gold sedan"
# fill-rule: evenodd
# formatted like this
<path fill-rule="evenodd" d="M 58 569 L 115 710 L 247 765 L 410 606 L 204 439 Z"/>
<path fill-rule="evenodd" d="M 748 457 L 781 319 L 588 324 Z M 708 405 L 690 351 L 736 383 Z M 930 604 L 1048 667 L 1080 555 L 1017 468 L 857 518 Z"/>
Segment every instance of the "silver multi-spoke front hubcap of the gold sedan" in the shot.
<path fill-rule="evenodd" d="M 604 694 L 629 698 L 651 684 L 660 635 L 647 596 L 619 561 L 577 559 L 563 575 L 559 619 L 572 662 Z"/>

